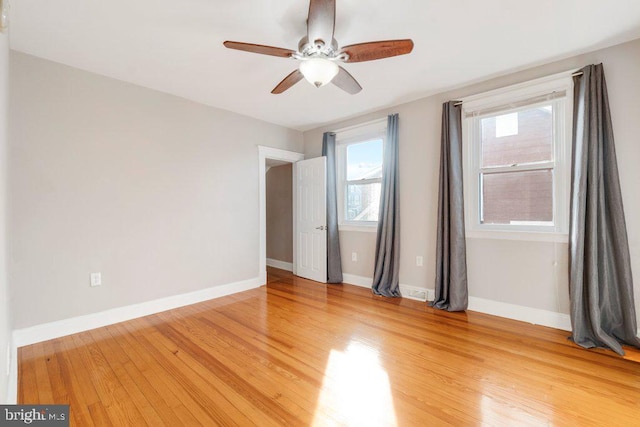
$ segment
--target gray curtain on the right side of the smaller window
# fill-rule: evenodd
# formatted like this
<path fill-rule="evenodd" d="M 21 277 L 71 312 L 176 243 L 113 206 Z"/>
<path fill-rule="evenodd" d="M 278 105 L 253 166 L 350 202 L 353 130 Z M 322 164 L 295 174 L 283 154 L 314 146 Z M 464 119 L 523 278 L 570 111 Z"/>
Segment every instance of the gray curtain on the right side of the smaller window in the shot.
<path fill-rule="evenodd" d="M 382 162 L 382 188 L 376 238 L 376 260 L 371 289 L 376 295 L 399 297 L 400 185 L 398 179 L 398 115 L 387 119 Z"/>

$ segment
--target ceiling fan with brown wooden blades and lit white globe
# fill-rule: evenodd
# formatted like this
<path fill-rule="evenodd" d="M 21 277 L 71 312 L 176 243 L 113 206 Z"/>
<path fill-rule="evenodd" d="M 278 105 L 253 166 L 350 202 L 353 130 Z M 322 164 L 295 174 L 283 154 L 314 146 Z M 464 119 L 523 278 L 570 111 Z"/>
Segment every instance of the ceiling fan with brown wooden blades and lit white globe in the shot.
<path fill-rule="evenodd" d="M 307 19 L 307 35 L 298 43 L 297 51 L 234 41 L 226 41 L 224 45 L 229 49 L 293 58 L 300 61 L 299 69 L 278 83 L 271 91 L 273 94 L 282 93 L 305 78 L 316 87 L 332 82 L 340 89 L 353 95 L 360 92 L 362 86 L 347 70 L 338 65 L 338 62 L 373 61 L 405 55 L 413 50 L 413 41 L 410 39 L 359 43 L 339 49 L 338 42 L 333 38 L 335 21 L 335 0 L 311 0 Z"/>

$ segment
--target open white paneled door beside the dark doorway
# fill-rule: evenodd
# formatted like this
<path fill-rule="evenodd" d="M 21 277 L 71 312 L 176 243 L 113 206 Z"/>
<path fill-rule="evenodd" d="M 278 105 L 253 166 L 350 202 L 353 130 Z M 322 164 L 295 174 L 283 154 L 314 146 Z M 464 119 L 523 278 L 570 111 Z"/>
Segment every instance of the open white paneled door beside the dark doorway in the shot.
<path fill-rule="evenodd" d="M 302 160 L 293 165 L 295 274 L 327 282 L 326 157 Z"/>

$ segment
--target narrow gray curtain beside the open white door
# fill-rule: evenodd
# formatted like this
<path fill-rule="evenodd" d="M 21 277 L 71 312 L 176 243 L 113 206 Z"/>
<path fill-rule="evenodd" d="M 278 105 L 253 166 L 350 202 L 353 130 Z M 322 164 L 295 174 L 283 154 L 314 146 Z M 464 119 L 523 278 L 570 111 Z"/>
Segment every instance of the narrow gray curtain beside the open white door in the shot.
<path fill-rule="evenodd" d="M 327 158 L 327 283 L 342 283 L 338 196 L 336 192 L 336 134 L 322 136 L 322 155 Z"/>

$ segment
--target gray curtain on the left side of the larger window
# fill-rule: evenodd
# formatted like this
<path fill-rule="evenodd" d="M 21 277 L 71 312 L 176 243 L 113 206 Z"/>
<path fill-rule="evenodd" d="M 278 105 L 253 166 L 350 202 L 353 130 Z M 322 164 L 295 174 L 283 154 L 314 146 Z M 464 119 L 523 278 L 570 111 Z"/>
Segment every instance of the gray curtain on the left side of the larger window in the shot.
<path fill-rule="evenodd" d="M 435 299 L 431 305 L 448 311 L 467 309 L 467 246 L 462 192 L 462 106 L 442 105 L 438 238 Z M 457 103 L 460 104 L 460 103 Z"/>

